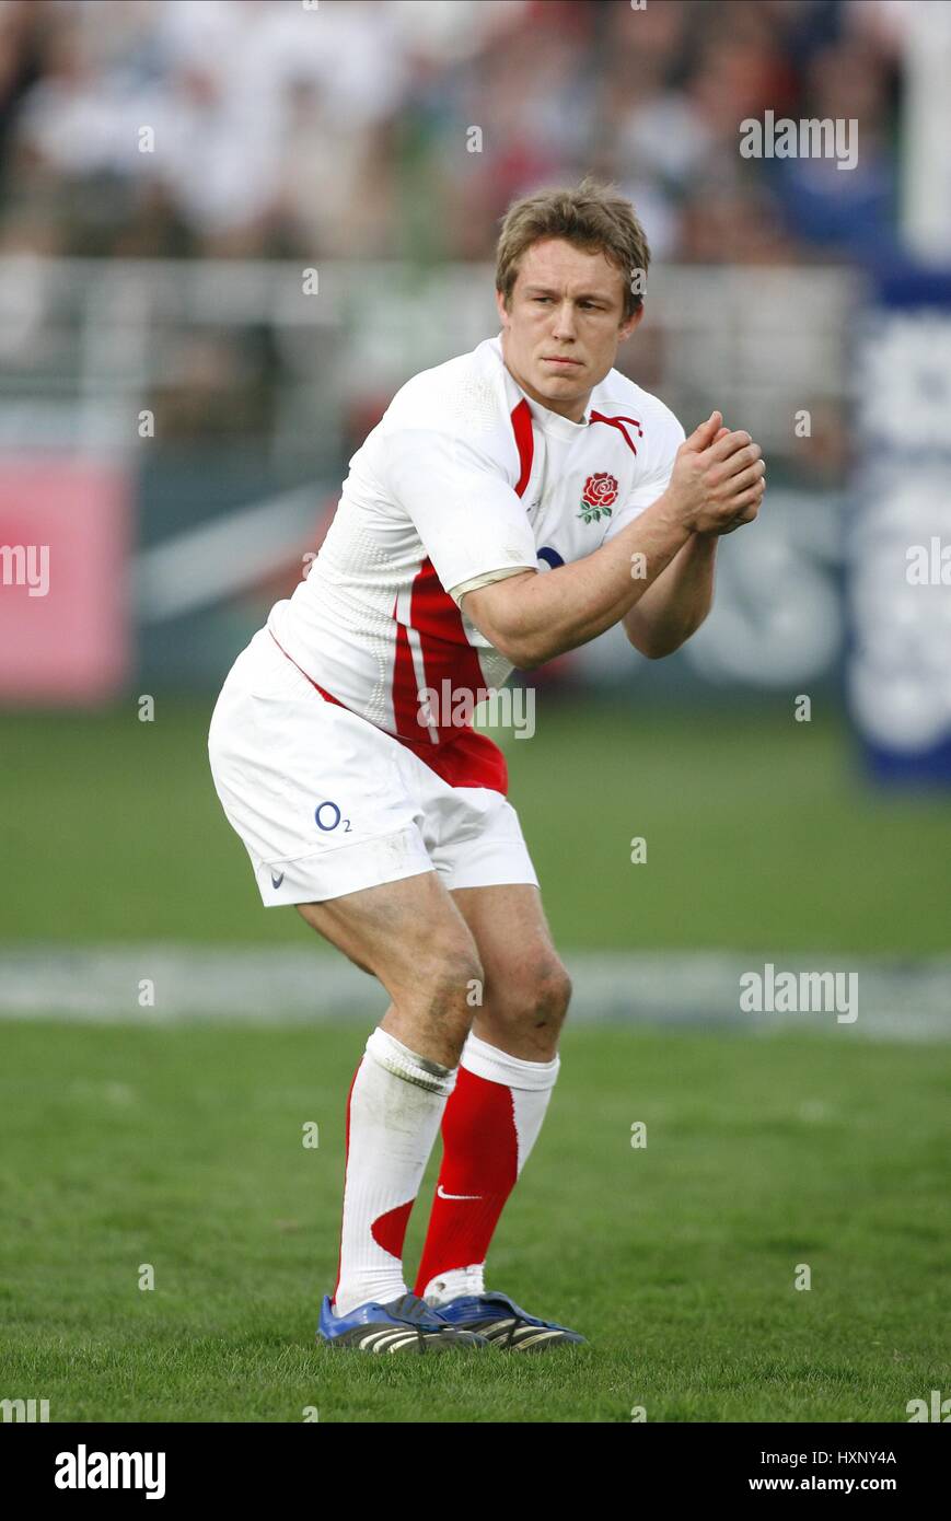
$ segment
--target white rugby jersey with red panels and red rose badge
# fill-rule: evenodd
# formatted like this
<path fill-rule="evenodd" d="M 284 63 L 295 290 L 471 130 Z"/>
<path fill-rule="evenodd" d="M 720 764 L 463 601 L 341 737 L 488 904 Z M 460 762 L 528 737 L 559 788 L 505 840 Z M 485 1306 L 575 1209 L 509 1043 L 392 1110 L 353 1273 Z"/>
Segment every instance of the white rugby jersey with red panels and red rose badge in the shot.
<path fill-rule="evenodd" d="M 663 493 L 683 437 L 616 370 L 572 423 L 522 391 L 501 333 L 485 339 L 397 391 L 350 459 L 306 581 L 268 628 L 326 697 L 453 785 L 505 791 L 498 747 L 470 727 L 437 727 L 420 704 L 446 680 L 484 695 L 511 674 L 460 599 L 592 554 Z"/>

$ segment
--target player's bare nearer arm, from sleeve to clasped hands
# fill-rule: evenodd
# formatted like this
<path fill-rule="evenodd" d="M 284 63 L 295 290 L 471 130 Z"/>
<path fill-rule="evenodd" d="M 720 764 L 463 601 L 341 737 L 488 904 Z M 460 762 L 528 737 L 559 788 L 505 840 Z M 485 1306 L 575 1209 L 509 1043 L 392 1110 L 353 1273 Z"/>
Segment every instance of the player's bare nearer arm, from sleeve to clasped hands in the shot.
<path fill-rule="evenodd" d="M 750 522 L 762 499 L 762 450 L 749 433 L 717 438 L 714 412 L 680 446 L 666 491 L 621 532 L 574 564 L 528 570 L 467 592 L 463 611 L 523 671 L 577 649 L 618 624 L 694 532 Z M 633 575 L 635 555 L 642 555 Z"/>

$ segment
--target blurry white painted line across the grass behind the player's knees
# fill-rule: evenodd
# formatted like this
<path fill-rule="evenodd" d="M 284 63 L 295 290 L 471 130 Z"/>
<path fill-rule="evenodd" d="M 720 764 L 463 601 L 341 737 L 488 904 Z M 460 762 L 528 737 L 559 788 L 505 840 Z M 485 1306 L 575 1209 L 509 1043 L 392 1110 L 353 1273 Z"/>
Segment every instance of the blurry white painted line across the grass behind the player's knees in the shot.
<path fill-rule="evenodd" d="M 854 1024 L 829 1013 L 739 1010 L 739 978 L 762 972 L 858 973 Z M 951 957 L 913 961 L 849 955 L 752 957 L 736 952 L 580 952 L 565 957 L 574 981 L 572 1024 L 831 1030 L 838 1039 L 951 1039 Z M 140 986 L 154 986 L 154 1007 Z M 148 996 L 148 992 L 146 995 Z M 371 1025 L 388 998 L 342 957 L 304 949 L 222 946 L 0 948 L 0 1018 L 76 1022 Z"/>

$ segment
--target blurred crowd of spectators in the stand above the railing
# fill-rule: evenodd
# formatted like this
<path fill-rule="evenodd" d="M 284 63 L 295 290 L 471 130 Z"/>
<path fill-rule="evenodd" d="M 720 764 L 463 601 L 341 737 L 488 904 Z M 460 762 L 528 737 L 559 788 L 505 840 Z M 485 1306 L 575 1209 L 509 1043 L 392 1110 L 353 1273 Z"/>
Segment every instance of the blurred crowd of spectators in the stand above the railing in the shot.
<path fill-rule="evenodd" d="M 0 0 L 0 254 L 490 259 L 593 170 L 654 257 L 896 240 L 902 0 Z M 739 123 L 860 122 L 854 170 Z"/>

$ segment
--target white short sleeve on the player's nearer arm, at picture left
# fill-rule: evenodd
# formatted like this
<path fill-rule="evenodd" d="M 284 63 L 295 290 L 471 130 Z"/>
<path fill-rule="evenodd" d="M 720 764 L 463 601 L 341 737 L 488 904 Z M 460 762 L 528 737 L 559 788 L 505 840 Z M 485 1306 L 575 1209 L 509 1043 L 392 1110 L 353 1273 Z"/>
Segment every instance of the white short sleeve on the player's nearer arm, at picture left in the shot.
<path fill-rule="evenodd" d="M 385 484 L 446 589 L 495 570 L 537 569 L 525 503 L 485 450 L 450 432 L 397 429 L 382 453 Z"/>

